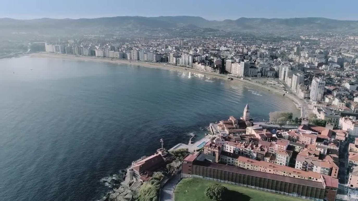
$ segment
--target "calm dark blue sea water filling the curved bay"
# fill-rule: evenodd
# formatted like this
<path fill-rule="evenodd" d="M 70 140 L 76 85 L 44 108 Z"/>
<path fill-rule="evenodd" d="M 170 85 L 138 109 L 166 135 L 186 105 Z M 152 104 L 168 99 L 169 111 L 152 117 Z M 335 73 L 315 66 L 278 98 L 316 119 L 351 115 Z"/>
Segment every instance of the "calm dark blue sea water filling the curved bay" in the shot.
<path fill-rule="evenodd" d="M 32 69 L 32 70 L 31 70 Z M 1 200 L 96 200 L 103 177 L 209 122 L 295 109 L 246 84 L 136 65 L 0 60 Z"/>

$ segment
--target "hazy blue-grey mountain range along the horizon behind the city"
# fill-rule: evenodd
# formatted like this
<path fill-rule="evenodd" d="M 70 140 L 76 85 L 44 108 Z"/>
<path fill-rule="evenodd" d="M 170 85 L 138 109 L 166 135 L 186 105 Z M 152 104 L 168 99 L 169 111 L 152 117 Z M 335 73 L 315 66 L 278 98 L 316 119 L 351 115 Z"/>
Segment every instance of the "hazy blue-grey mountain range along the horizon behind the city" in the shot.
<path fill-rule="evenodd" d="M 0 18 L 0 29 L 16 31 L 41 29 L 172 29 L 172 28 L 202 29 L 211 28 L 223 31 L 237 32 L 335 32 L 354 33 L 358 31 L 358 21 L 334 20 L 321 17 L 266 19 L 246 18 L 237 20 L 206 20 L 195 16 L 117 16 L 93 19 L 32 19 L 17 20 Z"/>

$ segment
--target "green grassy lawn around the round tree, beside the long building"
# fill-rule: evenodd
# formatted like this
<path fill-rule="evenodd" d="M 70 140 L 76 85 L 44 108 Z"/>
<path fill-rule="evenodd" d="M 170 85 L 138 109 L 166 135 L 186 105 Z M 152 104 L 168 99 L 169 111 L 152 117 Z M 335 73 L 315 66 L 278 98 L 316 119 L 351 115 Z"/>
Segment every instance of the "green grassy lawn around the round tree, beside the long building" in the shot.
<path fill-rule="evenodd" d="M 212 184 L 226 186 L 231 193 L 232 201 L 300 201 L 303 199 L 274 194 L 266 191 L 251 189 L 204 179 L 186 178 L 175 188 L 175 201 L 211 201 L 205 195 L 205 189 Z"/>

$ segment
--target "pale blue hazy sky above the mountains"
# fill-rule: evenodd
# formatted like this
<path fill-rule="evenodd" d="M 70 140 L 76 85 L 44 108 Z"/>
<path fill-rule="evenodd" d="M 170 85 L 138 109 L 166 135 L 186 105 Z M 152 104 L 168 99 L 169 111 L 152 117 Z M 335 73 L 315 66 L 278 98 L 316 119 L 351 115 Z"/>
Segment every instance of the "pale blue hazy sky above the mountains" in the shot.
<path fill-rule="evenodd" d="M 358 20 L 358 0 L 2 0 L 0 17 L 16 19 L 110 16 L 326 17 Z"/>

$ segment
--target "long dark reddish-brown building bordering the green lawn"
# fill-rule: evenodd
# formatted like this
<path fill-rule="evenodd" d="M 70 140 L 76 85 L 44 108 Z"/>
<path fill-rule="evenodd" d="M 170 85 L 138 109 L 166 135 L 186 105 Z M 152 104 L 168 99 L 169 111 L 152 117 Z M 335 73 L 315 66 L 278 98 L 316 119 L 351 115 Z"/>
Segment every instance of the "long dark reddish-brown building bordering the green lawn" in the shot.
<path fill-rule="evenodd" d="M 298 179 L 228 165 L 197 160 L 189 154 L 182 160 L 182 176 L 221 181 L 229 184 L 300 197 L 309 200 L 335 201 L 338 180 L 320 175 L 320 180 Z M 257 161 L 258 162 L 258 161 Z"/>

